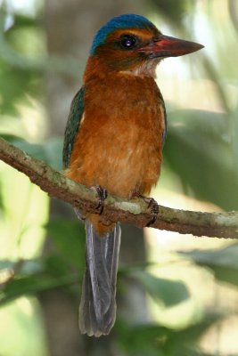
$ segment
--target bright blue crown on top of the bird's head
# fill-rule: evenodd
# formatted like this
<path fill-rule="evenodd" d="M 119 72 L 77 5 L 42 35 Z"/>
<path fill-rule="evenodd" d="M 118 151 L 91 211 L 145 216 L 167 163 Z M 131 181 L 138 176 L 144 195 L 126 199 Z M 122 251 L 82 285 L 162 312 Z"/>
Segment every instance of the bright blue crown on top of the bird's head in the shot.
<path fill-rule="evenodd" d="M 98 45 L 103 44 L 107 36 L 119 28 L 155 28 L 151 21 L 144 16 L 127 13 L 109 20 L 103 28 L 100 28 L 94 36 L 93 44 L 90 48 L 90 54 L 94 55 Z"/>

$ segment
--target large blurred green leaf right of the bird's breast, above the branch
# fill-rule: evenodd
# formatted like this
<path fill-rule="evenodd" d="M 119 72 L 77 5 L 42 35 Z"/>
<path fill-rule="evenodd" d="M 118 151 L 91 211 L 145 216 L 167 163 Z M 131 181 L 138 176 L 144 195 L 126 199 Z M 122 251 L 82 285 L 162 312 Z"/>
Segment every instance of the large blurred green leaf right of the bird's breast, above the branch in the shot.
<path fill-rule="evenodd" d="M 238 179 L 229 144 L 226 115 L 180 110 L 168 115 L 165 157 L 185 191 L 226 210 L 238 208 Z"/>

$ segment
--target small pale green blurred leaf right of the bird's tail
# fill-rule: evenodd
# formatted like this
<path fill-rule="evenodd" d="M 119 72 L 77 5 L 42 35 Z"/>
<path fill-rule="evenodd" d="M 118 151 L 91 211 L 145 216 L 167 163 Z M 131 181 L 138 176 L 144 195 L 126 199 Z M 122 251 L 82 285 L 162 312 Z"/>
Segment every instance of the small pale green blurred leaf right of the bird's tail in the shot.
<path fill-rule="evenodd" d="M 183 282 L 161 279 L 147 271 L 129 272 L 128 276 L 138 280 L 152 298 L 165 306 L 182 303 L 189 297 L 189 292 Z"/>

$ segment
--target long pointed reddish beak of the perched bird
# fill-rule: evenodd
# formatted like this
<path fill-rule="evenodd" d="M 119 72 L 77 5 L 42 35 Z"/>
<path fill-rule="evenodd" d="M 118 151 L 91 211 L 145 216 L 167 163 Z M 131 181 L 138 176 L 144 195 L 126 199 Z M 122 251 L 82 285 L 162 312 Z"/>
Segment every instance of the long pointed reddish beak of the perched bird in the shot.
<path fill-rule="evenodd" d="M 193 53 L 201 50 L 201 48 L 203 47 L 204 45 L 196 44 L 195 42 L 160 35 L 150 44 L 147 44 L 143 48 L 140 48 L 139 52 L 145 53 L 149 58 L 166 58 Z"/>

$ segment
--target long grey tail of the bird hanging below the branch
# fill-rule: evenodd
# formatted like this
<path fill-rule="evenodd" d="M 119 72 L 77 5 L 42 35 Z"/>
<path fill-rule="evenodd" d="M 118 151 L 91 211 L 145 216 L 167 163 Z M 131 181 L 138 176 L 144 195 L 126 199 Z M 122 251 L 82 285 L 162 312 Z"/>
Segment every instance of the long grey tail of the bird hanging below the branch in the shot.
<path fill-rule="evenodd" d="M 98 235 L 86 220 L 86 271 L 79 305 L 79 329 L 88 336 L 109 334 L 116 319 L 120 227 Z"/>

